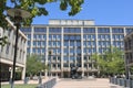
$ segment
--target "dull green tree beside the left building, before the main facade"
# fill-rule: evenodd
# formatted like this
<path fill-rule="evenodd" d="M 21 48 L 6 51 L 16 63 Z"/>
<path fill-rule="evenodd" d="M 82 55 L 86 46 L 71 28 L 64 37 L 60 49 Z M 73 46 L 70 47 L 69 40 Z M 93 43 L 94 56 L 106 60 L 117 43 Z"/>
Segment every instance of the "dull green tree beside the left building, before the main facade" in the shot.
<path fill-rule="evenodd" d="M 41 70 L 47 69 L 48 67 L 41 63 L 40 56 L 29 55 L 27 57 L 27 75 L 37 75 Z"/>

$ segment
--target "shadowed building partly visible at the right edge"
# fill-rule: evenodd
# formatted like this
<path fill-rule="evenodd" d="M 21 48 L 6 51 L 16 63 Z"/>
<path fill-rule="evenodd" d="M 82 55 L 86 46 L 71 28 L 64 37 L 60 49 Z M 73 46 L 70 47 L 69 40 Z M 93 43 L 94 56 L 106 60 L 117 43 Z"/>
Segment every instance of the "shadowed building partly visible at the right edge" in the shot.
<path fill-rule="evenodd" d="M 124 37 L 124 50 L 125 50 L 126 78 L 129 78 L 131 74 L 130 67 L 133 66 L 133 32 L 131 32 Z"/>

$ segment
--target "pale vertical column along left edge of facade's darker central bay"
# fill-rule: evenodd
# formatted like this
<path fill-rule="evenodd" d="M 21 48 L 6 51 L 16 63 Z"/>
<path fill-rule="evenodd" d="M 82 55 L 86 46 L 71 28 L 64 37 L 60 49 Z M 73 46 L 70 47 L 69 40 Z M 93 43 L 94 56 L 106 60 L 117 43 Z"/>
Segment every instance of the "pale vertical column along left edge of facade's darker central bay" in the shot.
<path fill-rule="evenodd" d="M 61 28 L 61 77 L 63 77 L 63 26 Z"/>

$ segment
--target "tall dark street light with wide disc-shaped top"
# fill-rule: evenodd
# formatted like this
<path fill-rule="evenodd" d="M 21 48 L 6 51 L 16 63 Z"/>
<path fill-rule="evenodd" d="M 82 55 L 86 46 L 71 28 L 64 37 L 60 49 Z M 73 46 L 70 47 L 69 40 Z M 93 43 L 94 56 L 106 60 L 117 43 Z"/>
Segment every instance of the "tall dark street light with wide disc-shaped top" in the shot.
<path fill-rule="evenodd" d="M 21 26 L 22 19 L 29 18 L 31 14 L 28 11 L 21 9 L 9 9 L 7 11 L 8 15 L 14 19 L 16 30 L 16 43 L 14 43 L 14 57 L 13 57 L 13 69 L 11 78 L 11 88 L 13 88 L 14 77 L 16 77 L 16 61 L 17 61 L 17 47 L 18 47 L 18 33 Z"/>

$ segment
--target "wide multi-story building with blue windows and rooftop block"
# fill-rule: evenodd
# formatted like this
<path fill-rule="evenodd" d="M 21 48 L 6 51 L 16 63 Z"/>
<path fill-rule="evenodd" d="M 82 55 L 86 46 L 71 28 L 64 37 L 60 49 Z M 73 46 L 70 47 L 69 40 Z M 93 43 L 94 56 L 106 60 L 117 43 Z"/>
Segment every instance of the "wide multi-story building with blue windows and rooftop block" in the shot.
<path fill-rule="evenodd" d="M 133 26 L 95 25 L 93 20 L 50 20 L 48 25 L 34 24 L 21 31 L 28 36 L 29 54 L 42 56 L 52 76 L 70 77 L 71 66 L 78 66 L 82 76 L 96 75 L 91 56 L 104 54 L 111 46 L 123 51 L 124 35 Z"/>

